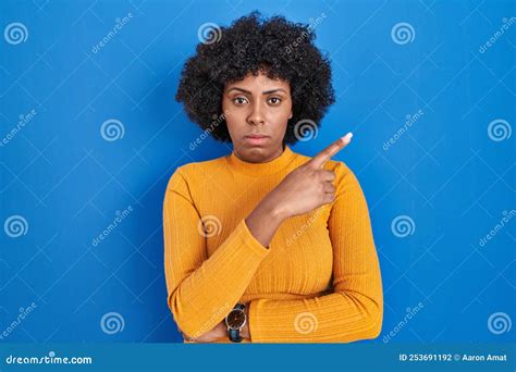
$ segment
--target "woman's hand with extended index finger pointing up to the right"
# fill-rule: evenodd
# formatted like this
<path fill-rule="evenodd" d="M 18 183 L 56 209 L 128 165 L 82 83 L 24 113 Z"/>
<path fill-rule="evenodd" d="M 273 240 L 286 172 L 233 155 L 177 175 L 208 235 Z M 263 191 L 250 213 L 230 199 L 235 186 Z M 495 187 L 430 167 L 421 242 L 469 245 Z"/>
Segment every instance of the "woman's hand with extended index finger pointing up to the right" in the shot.
<path fill-rule="evenodd" d="M 330 203 L 335 198 L 335 187 L 332 182 L 335 174 L 322 169 L 324 163 L 342 150 L 352 140 L 348 133 L 328 146 L 305 164 L 298 166 L 273 189 L 266 198 L 265 203 L 278 206 L 284 219 L 307 213 L 314 209 Z"/>

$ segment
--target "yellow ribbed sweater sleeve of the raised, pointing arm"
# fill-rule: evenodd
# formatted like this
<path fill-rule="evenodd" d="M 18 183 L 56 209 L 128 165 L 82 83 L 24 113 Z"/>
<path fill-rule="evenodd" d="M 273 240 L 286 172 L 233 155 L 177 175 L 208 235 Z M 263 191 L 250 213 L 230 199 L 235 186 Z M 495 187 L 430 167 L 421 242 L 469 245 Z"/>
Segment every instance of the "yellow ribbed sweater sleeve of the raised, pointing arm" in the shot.
<path fill-rule="evenodd" d="M 269 249 L 242 220 L 208 258 L 201 216 L 181 168 L 167 187 L 163 236 L 169 308 L 180 330 L 198 337 L 233 309 Z"/>

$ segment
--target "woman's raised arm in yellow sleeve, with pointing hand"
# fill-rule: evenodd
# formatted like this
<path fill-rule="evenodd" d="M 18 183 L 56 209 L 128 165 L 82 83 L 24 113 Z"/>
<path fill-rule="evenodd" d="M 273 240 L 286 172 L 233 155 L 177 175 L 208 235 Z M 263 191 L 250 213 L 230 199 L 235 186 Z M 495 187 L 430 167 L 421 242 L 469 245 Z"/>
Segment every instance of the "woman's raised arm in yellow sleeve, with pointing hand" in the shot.
<path fill-rule="evenodd" d="M 269 253 L 265 246 L 283 220 L 334 200 L 335 188 L 330 182 L 335 175 L 321 168 L 351 137 L 336 140 L 290 173 L 210 258 L 205 237 L 194 233 L 200 216 L 186 179 L 181 169 L 174 173 L 163 203 L 164 265 L 169 307 L 185 336 L 197 338 L 210 330 L 217 334 L 213 328 L 244 294 Z"/>

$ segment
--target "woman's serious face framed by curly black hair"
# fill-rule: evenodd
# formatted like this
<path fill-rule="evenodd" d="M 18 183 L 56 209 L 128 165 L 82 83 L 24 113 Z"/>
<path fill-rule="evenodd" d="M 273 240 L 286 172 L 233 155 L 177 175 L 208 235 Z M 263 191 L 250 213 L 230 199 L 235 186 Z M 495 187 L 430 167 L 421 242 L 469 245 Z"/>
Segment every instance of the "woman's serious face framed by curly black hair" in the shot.
<path fill-rule="evenodd" d="M 292 117 L 290 84 L 260 73 L 226 84 L 222 110 L 235 154 L 263 163 L 283 152 L 286 124 Z"/>

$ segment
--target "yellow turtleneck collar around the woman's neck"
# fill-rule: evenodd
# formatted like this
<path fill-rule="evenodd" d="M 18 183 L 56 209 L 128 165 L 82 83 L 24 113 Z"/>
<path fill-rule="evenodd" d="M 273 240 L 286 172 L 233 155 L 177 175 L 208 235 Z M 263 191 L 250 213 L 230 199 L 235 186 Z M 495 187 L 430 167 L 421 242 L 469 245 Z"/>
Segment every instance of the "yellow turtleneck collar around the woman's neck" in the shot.
<path fill-rule="evenodd" d="M 281 156 L 265 163 L 250 163 L 244 161 L 235 154 L 234 150 L 230 156 L 226 157 L 226 160 L 228 165 L 239 173 L 251 176 L 262 176 L 273 174 L 285 169 L 290 163 L 292 163 L 295 157 L 296 153 L 293 152 L 287 145 L 285 145 Z"/>

